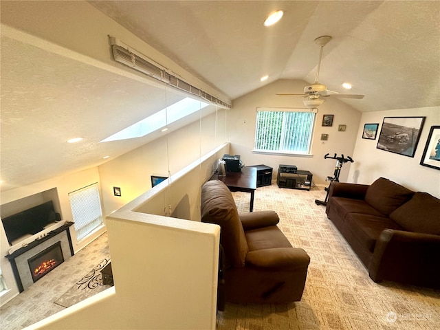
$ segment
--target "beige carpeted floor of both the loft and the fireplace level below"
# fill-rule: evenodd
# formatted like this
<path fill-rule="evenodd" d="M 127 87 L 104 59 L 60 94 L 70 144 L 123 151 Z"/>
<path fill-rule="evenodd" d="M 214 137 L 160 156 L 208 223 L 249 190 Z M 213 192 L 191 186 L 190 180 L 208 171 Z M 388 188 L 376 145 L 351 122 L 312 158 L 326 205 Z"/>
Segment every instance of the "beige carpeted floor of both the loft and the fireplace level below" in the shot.
<path fill-rule="evenodd" d="M 241 212 L 248 212 L 249 198 L 234 192 Z M 324 198 L 322 188 L 290 190 L 272 184 L 256 190 L 254 210 L 276 210 L 289 241 L 311 257 L 305 292 L 299 303 L 288 305 L 228 303 L 217 316 L 217 330 L 439 329 L 440 291 L 371 281 L 327 219 L 325 207 L 314 203 Z M 64 307 L 54 302 L 108 257 L 104 234 L 1 307 L 0 329 L 23 329 L 61 311 Z"/>

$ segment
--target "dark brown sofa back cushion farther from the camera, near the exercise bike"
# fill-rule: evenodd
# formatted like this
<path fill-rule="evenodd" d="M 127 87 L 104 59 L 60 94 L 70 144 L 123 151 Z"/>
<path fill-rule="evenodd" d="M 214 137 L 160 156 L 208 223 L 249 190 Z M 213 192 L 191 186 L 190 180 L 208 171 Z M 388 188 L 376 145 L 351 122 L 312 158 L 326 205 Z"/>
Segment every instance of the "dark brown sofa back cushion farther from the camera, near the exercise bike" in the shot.
<path fill-rule="evenodd" d="M 380 177 L 366 190 L 365 201 L 385 215 L 408 201 L 414 192 L 393 181 Z"/>

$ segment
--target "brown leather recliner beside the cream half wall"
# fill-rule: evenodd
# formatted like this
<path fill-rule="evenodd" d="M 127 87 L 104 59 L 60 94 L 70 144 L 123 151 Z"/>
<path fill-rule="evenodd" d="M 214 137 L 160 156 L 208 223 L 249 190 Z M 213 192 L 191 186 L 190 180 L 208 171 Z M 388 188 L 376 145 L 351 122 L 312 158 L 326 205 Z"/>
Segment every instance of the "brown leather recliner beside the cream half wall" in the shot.
<path fill-rule="evenodd" d="M 230 190 L 212 180 L 201 189 L 201 221 L 221 227 L 225 299 L 231 303 L 290 303 L 301 300 L 310 263 L 276 224 L 278 214 L 239 214 Z"/>

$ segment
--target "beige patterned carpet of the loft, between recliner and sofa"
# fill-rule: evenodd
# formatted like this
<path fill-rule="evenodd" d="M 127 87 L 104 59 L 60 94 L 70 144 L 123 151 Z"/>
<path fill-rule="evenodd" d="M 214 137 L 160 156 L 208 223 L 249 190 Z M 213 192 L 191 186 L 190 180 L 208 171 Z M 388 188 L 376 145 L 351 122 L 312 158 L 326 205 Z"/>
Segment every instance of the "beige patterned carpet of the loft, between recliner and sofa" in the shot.
<path fill-rule="evenodd" d="M 233 195 L 247 212 L 250 195 Z M 272 184 L 256 190 L 254 210 L 276 210 L 289 241 L 311 257 L 305 292 L 289 305 L 228 303 L 217 316 L 217 330 L 440 329 L 440 290 L 371 281 L 325 206 L 314 203 L 324 198 L 323 188 L 308 192 Z"/>

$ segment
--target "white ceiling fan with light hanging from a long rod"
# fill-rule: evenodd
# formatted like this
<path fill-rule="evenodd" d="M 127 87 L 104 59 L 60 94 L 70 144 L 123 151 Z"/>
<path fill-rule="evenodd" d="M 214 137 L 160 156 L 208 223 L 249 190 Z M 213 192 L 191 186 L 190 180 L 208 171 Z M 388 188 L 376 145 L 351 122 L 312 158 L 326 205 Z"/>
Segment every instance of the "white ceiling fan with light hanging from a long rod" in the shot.
<path fill-rule="evenodd" d="M 322 85 L 318 83 L 318 77 L 321 67 L 322 60 L 322 51 L 324 50 L 324 46 L 327 45 L 331 41 L 331 36 L 319 36 L 315 39 L 315 43 L 320 46 L 319 53 L 319 61 L 318 61 L 318 69 L 316 71 L 315 83 L 313 85 L 309 85 L 304 87 L 303 94 L 276 94 L 277 96 L 298 96 L 307 98 L 307 100 L 303 100 L 306 107 L 316 108 L 320 104 L 322 104 L 325 100 L 324 98 L 332 97 L 332 98 L 364 98 L 362 94 L 339 94 L 337 91 L 330 91 L 327 89 L 326 85 Z"/>

